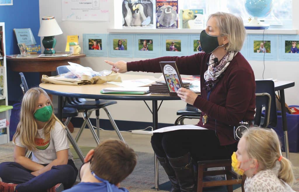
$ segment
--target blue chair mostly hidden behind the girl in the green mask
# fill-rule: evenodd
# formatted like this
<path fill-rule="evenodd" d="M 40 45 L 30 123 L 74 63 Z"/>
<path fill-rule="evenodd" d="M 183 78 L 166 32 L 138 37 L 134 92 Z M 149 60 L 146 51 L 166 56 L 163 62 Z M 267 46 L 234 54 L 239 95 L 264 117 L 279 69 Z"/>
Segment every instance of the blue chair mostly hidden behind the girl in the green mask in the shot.
<path fill-rule="evenodd" d="M 19 73 L 21 76 L 21 81 L 22 83 L 20 84 L 20 87 L 22 89 L 23 94 L 25 94 L 28 91 L 28 85 L 27 85 L 27 81 L 25 79 L 25 76 L 22 72 Z M 54 114 L 56 115 L 57 113 L 57 109 L 54 108 Z M 66 118 L 65 120 L 65 125 L 68 126 L 69 122 L 71 121 L 72 117 L 76 117 L 78 116 L 78 110 L 76 108 L 73 107 L 65 107 L 62 111 L 62 118 Z M 26 152 L 27 153 L 27 152 Z M 30 158 L 32 155 L 32 152 L 30 151 L 29 154 L 26 155 L 26 157 Z"/>

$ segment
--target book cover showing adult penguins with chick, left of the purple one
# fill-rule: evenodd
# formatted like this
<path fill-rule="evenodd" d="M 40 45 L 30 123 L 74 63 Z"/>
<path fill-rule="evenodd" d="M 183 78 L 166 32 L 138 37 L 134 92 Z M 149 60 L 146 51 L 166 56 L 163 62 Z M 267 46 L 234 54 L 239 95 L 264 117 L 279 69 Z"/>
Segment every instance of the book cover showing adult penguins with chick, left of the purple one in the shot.
<path fill-rule="evenodd" d="M 123 28 L 155 28 L 152 0 L 123 0 Z"/>

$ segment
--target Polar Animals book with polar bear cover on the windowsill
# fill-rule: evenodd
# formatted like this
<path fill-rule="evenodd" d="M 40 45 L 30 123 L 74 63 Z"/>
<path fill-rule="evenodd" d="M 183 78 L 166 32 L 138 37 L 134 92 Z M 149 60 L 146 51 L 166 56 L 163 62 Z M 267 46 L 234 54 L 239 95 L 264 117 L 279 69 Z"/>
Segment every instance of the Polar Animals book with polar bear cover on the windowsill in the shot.
<path fill-rule="evenodd" d="M 204 10 L 203 9 L 182 9 L 180 10 L 181 29 L 203 29 Z"/>

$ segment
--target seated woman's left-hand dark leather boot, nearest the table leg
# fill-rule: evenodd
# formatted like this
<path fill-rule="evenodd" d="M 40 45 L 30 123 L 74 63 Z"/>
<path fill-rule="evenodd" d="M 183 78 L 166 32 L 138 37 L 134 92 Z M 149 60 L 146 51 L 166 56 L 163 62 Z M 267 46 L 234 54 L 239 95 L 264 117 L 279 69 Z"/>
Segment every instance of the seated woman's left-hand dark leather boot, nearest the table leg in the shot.
<path fill-rule="evenodd" d="M 178 180 L 176 179 L 176 174 L 173 168 L 170 166 L 168 159 L 166 157 L 158 157 L 158 156 L 157 158 L 170 180 L 171 183 L 170 192 L 180 192 L 181 190 L 180 190 Z"/>

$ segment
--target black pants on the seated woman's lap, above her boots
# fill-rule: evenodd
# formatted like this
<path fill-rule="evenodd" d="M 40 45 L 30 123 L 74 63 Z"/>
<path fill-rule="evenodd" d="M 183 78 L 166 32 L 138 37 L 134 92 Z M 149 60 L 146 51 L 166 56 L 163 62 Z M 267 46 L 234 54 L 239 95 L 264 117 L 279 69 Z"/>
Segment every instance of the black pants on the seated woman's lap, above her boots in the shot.
<path fill-rule="evenodd" d="M 230 159 L 237 143 L 221 146 L 213 130 L 176 130 L 154 133 L 152 148 L 158 157 L 181 157 L 190 152 L 196 161 Z"/>

